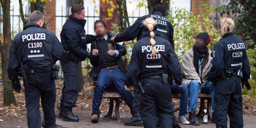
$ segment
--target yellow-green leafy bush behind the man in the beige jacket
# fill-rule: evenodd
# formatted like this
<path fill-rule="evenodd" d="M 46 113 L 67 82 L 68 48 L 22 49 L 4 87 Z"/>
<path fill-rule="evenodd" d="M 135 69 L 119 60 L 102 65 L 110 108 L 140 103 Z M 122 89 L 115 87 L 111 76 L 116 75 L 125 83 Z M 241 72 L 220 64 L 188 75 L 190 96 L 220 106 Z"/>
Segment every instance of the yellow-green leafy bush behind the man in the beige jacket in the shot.
<path fill-rule="evenodd" d="M 170 15 L 167 16 L 170 23 L 174 27 L 174 41 L 175 51 L 178 51 L 178 58 L 181 62 L 182 55 L 185 51 L 190 49 L 196 39 L 196 35 L 200 32 L 208 32 L 211 37 L 211 42 L 208 45 L 208 48 L 213 50 L 214 44 L 216 44 L 221 36 L 218 33 L 218 30 L 213 26 L 213 22 L 216 22 L 215 19 L 209 18 L 210 15 L 216 12 L 218 7 L 212 7 L 207 4 L 202 4 L 207 13 L 200 13 L 197 16 L 194 16 L 190 10 L 180 9 L 175 11 L 170 11 Z M 174 16 L 174 17 L 172 17 Z"/>

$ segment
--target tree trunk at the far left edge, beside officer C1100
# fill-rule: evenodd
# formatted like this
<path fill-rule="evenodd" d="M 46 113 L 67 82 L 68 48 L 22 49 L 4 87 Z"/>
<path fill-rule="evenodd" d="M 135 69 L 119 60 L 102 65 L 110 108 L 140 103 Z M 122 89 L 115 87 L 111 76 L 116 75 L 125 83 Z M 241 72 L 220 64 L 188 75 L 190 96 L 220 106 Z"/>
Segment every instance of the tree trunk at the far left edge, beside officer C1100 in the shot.
<path fill-rule="evenodd" d="M 1 0 L 3 9 L 3 36 L 4 42 L 0 45 L 1 59 L 2 59 L 2 80 L 4 88 L 4 104 L 10 106 L 12 103 L 16 104 L 13 94 L 12 84 L 8 78 L 7 68 L 9 63 L 9 50 L 12 44 L 11 37 L 11 23 L 10 23 L 10 0 Z"/>

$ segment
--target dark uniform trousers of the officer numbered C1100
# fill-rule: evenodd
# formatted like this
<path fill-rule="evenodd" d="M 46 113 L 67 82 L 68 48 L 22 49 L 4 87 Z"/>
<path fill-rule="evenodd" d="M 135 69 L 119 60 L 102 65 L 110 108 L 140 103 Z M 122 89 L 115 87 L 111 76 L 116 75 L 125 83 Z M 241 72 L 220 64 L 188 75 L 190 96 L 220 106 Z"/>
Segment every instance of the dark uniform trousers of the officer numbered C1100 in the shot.
<path fill-rule="evenodd" d="M 42 127 L 56 128 L 54 104 L 56 101 L 55 82 L 52 73 L 33 73 L 27 75 L 25 101 L 29 128 L 41 128 L 40 96 L 44 111 Z"/>

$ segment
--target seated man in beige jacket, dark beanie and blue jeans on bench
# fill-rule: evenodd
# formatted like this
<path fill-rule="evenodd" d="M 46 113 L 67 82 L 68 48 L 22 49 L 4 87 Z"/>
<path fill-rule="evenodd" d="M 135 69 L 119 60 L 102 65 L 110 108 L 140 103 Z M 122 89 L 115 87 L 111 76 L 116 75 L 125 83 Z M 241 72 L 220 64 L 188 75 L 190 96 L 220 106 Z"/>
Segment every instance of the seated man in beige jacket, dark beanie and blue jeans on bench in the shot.
<path fill-rule="evenodd" d="M 209 82 L 204 87 L 207 72 L 212 67 L 210 56 L 211 50 L 206 46 L 210 43 L 211 39 L 207 32 L 202 32 L 197 35 L 196 44 L 189 50 L 185 51 L 182 57 L 182 71 L 183 80 L 181 88 L 177 88 L 175 82 L 171 86 L 172 93 L 180 93 L 180 112 L 179 122 L 182 124 L 199 125 L 196 118 L 196 109 L 198 105 L 198 94 L 210 93 L 212 102 L 212 122 L 214 123 L 214 110 L 213 110 L 213 97 L 212 82 Z M 189 95 L 189 121 L 185 118 L 187 111 L 187 101 Z"/>

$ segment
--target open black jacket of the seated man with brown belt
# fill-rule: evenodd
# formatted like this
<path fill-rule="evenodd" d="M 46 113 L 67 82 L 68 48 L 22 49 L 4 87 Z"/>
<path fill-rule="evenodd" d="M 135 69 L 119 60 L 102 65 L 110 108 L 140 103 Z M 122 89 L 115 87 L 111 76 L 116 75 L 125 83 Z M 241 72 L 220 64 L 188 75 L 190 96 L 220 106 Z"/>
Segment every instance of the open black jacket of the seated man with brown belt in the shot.
<path fill-rule="evenodd" d="M 111 37 L 116 36 L 115 34 L 110 34 L 111 32 L 108 32 L 108 41 L 110 43 L 113 43 L 112 41 L 110 41 Z M 124 44 L 119 45 L 117 43 L 114 43 L 115 46 L 115 50 L 117 50 L 119 52 L 119 56 L 115 57 L 117 60 L 118 65 L 120 66 L 120 70 L 125 73 L 125 64 L 124 64 L 124 60 L 122 59 L 122 56 L 126 55 L 126 48 L 124 46 Z M 99 44 L 98 39 L 94 40 L 91 43 L 91 51 L 93 51 L 94 49 L 99 50 L 101 47 L 101 45 Z M 93 65 L 93 68 L 90 72 L 90 77 L 98 77 L 99 71 L 100 71 L 100 63 L 101 63 L 101 51 L 99 50 L 99 55 L 93 56 L 90 55 L 90 62 Z"/>

